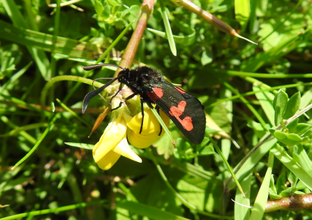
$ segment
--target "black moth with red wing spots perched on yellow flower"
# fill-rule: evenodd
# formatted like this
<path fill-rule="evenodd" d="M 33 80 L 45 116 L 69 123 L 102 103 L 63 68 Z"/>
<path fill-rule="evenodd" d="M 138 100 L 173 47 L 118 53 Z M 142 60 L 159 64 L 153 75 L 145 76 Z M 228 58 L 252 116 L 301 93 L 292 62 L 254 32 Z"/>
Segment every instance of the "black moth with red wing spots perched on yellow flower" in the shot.
<path fill-rule="evenodd" d="M 151 108 L 151 103 L 156 104 L 156 108 L 161 108 L 165 114 L 172 119 L 172 122 L 180 129 L 180 131 L 195 144 L 200 144 L 205 136 L 206 117 L 204 112 L 204 105 L 200 101 L 188 94 L 186 91 L 174 87 L 170 82 L 163 78 L 159 71 L 149 66 L 136 66 L 132 69 L 124 68 L 114 64 L 96 64 L 91 66 L 84 66 L 84 70 L 89 71 L 94 68 L 102 66 L 114 66 L 121 68 L 117 78 L 112 78 L 103 87 L 89 92 L 84 97 L 82 113 L 87 109 L 87 105 L 91 98 L 99 94 L 112 82 L 118 80 L 122 84 L 127 85 L 133 94 L 125 98 L 124 101 L 133 98 L 135 95 L 140 95 L 141 110 L 142 110 L 142 124 L 144 120 L 143 103 L 147 103 Z M 119 92 L 117 91 L 117 93 Z M 117 108 L 120 108 L 122 102 Z M 114 108 L 112 110 L 116 110 Z M 142 125 L 141 130 L 142 131 Z"/>

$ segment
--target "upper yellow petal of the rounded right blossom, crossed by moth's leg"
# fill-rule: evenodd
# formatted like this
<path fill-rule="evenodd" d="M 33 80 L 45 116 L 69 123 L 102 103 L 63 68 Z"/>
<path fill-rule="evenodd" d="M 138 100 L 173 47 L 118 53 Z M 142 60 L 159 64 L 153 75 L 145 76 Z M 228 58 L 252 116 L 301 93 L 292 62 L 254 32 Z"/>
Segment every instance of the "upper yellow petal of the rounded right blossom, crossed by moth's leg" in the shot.
<path fill-rule="evenodd" d="M 163 119 L 163 122 L 165 124 L 169 124 L 170 118 L 165 115 L 165 112 L 163 110 L 160 110 L 161 118 Z M 140 128 L 142 124 L 142 113 L 135 115 L 131 119 L 131 121 L 128 123 L 128 127 L 139 133 Z M 161 125 L 159 124 L 158 120 L 156 119 L 153 112 L 151 112 L 150 109 L 144 110 L 144 122 L 143 122 L 143 129 L 142 129 L 142 135 L 151 135 L 153 133 L 159 133 L 161 131 Z"/>

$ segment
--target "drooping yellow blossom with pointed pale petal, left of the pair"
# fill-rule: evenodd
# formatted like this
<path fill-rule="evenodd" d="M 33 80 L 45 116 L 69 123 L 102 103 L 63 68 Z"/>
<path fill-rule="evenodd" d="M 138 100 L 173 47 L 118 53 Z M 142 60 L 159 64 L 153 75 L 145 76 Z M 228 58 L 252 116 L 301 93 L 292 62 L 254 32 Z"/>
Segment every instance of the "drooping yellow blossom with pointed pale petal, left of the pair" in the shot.
<path fill-rule="evenodd" d="M 106 127 L 100 140 L 94 145 L 94 161 L 103 170 L 110 169 L 119 157 L 126 156 L 128 159 L 142 163 L 142 159 L 133 152 L 126 140 L 126 113 L 119 112 L 118 117 L 113 117 Z"/>

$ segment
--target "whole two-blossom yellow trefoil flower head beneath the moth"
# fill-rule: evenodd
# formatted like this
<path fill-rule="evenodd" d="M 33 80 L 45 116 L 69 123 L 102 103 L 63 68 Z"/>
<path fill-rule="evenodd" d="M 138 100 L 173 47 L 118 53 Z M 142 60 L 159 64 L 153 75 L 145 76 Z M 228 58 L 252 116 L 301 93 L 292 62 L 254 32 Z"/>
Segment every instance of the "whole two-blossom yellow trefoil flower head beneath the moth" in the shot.
<path fill-rule="evenodd" d="M 119 102 L 119 98 L 116 98 L 116 100 L 113 98 L 112 106 L 116 105 L 116 103 L 119 104 Z M 168 127 L 170 123 L 169 117 L 162 110 L 160 111 L 160 115 Z M 162 129 L 161 135 L 159 135 L 161 125 L 150 109 L 144 110 L 142 133 L 140 133 L 141 123 L 142 113 L 140 112 L 138 115 L 131 117 L 126 105 L 112 112 L 110 123 L 93 149 L 94 161 L 98 164 L 99 168 L 103 170 L 112 168 L 121 155 L 133 161 L 142 162 L 142 159 L 128 145 L 128 141 L 134 147 L 149 147 L 165 131 Z"/>

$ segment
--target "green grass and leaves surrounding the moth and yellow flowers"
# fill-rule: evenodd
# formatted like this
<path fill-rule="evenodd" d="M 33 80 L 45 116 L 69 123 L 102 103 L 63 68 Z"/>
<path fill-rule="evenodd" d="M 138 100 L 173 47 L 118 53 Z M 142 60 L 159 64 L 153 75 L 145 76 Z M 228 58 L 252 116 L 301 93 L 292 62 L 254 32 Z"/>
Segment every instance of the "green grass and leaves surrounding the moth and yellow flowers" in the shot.
<path fill-rule="evenodd" d="M 222 156 L 214 149 L 220 147 L 235 168 L 270 128 L 278 126 L 272 101 L 280 88 L 287 88 L 289 97 L 300 91 L 300 109 L 311 102 L 311 1 L 193 1 L 258 45 L 225 34 L 220 25 L 213 27 L 172 1 L 154 3 L 135 60 L 158 68 L 197 96 L 218 126 L 211 124 L 202 144 L 193 145 L 171 124 L 177 149 L 163 135 L 154 147 L 135 149 L 142 163 L 121 157 L 107 171 L 96 166 L 89 145 L 101 137 L 109 117 L 88 138 L 103 112 L 103 101 L 94 98 L 91 110 L 82 115 L 82 100 L 90 85 L 72 78 L 52 79 L 112 77 L 109 69 L 86 75 L 82 66 L 94 64 L 120 38 L 105 56 L 106 61 L 118 64 L 141 15 L 142 2 L 78 0 L 61 8 L 55 3 L 0 1 L 1 219 L 312 217 L 311 210 L 306 210 L 312 204 L 309 141 L 283 147 L 273 138 L 261 145 L 236 169 L 246 198 L 236 190 Z M 163 19 L 165 13 L 168 20 Z M 164 38 L 168 21 L 176 55 Z M 47 82 L 52 82 L 51 87 Z M 299 122 L 312 124 L 311 113 L 306 114 Z M 220 129 L 224 133 L 216 133 Z M 209 134 L 217 138 L 216 145 Z M 65 142 L 89 145 L 77 148 Z M 29 158 L 22 159 L 28 152 Z M 275 211 L 265 213 L 268 193 L 286 201 L 290 195 L 308 199 L 297 200 L 296 208 L 271 207 Z"/>

